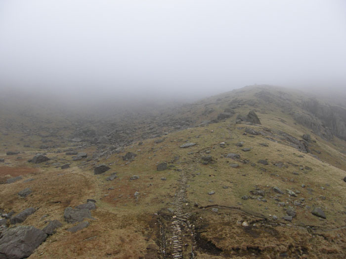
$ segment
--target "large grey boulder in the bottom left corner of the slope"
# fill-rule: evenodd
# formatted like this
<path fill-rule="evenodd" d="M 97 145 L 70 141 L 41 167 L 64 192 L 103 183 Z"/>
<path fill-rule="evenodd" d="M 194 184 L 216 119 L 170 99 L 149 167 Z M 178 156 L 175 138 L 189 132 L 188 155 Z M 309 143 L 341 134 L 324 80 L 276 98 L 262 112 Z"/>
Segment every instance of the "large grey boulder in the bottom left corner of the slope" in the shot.
<path fill-rule="evenodd" d="M 8 228 L 0 239 L 0 258 L 28 258 L 46 238 L 47 235 L 34 226 Z"/>

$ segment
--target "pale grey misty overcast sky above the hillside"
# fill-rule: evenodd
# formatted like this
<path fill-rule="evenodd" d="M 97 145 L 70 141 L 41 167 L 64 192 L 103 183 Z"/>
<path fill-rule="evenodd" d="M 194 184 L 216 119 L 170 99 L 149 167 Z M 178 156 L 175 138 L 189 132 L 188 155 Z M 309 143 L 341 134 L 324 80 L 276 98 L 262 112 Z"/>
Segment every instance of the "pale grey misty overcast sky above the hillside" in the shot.
<path fill-rule="evenodd" d="M 0 88 L 346 89 L 345 0 L 0 0 Z"/>

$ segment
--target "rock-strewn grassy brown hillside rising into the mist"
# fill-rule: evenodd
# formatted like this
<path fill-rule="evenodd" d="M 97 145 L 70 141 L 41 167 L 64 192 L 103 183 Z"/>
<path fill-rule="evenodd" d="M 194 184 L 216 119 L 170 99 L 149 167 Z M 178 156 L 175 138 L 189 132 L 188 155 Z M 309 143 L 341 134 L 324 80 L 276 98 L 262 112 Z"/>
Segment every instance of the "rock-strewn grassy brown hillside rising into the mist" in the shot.
<path fill-rule="evenodd" d="M 0 112 L 0 258 L 346 257 L 345 104 L 258 85 Z M 8 251 L 19 226 L 43 229 L 36 250 Z"/>

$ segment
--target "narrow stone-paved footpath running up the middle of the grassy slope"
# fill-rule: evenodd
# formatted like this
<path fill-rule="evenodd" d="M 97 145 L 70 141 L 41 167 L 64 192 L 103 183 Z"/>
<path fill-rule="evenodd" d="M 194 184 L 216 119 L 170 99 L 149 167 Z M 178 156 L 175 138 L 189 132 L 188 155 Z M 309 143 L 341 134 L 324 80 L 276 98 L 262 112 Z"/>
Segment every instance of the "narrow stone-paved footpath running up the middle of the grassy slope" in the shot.
<path fill-rule="evenodd" d="M 186 171 L 182 171 L 174 197 L 173 216 L 161 220 L 161 227 L 163 228 L 161 230 L 161 251 L 163 258 L 195 258 L 194 225 L 189 220 L 191 213 L 184 211 L 187 180 Z M 165 242 L 162 240 L 165 240 Z"/>

